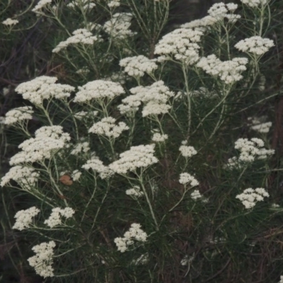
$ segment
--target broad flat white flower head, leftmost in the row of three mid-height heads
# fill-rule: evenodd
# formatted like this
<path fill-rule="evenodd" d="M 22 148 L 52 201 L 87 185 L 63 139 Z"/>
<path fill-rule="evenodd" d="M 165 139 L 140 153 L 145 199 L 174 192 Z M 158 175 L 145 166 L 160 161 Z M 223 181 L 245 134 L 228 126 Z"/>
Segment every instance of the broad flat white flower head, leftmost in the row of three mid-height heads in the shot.
<path fill-rule="evenodd" d="M 21 83 L 16 91 L 23 95 L 24 99 L 34 104 L 42 104 L 42 100 L 50 98 L 67 98 L 75 90 L 74 86 L 55 83 L 57 78 L 54 76 L 38 76 L 37 78 Z"/>

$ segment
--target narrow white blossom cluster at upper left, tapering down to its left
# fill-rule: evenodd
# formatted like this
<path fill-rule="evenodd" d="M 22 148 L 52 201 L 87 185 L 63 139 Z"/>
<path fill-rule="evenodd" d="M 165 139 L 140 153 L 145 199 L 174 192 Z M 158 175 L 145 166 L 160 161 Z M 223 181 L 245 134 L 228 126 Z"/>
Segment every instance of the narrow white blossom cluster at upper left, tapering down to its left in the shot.
<path fill-rule="evenodd" d="M 93 35 L 90 31 L 86 30 L 86 28 L 79 28 L 75 30 L 73 36 L 69 37 L 67 40 L 62 41 L 57 45 L 57 47 L 52 50 L 53 53 L 58 53 L 60 50 L 67 48 L 69 45 L 73 44 L 84 44 L 84 45 L 93 45 L 94 42 L 101 40 L 96 35 Z"/>

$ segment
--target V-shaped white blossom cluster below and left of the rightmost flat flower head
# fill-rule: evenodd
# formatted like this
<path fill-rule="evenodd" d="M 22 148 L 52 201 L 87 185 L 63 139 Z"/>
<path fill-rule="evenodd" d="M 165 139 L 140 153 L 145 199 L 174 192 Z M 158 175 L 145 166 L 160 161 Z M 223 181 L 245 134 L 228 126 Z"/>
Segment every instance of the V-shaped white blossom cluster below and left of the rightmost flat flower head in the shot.
<path fill-rule="evenodd" d="M 197 63 L 197 67 L 203 69 L 207 74 L 219 76 L 224 83 L 234 83 L 243 79 L 241 73 L 246 71 L 248 59 L 244 57 L 233 58 L 222 62 L 214 54 L 202 57 Z"/>

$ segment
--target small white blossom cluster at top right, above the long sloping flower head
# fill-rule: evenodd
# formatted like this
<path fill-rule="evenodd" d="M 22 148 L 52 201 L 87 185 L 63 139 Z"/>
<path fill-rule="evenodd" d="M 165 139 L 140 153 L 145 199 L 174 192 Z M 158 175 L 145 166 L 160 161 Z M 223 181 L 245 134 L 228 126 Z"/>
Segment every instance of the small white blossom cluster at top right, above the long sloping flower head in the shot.
<path fill-rule="evenodd" d="M 240 15 L 233 13 L 236 8 L 238 8 L 238 5 L 235 3 L 224 4 L 220 2 L 212 5 L 207 12 L 216 22 L 224 21 L 224 18 L 227 18 L 229 22 L 235 23 L 238 18 L 241 18 Z"/>

